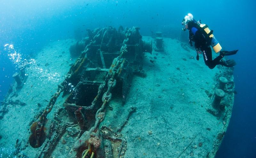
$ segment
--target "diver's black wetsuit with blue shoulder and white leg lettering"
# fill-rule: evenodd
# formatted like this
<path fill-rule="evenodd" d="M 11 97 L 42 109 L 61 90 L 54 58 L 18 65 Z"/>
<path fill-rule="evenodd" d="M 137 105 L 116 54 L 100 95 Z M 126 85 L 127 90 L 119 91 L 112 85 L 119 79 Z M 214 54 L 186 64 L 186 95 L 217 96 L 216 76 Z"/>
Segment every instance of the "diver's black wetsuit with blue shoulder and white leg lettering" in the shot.
<path fill-rule="evenodd" d="M 204 63 L 210 69 L 215 68 L 216 65 L 223 65 L 223 62 L 220 61 L 223 56 L 219 55 L 214 60 L 212 60 L 212 49 L 210 46 L 210 42 L 207 42 L 207 39 L 204 37 L 202 29 L 196 23 L 196 21 L 192 20 L 188 22 L 188 30 L 189 30 L 189 41 L 192 45 L 191 41 L 195 42 L 195 48 L 200 49 L 204 56 Z"/>

